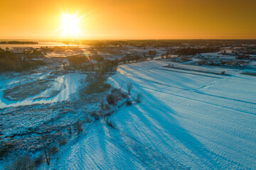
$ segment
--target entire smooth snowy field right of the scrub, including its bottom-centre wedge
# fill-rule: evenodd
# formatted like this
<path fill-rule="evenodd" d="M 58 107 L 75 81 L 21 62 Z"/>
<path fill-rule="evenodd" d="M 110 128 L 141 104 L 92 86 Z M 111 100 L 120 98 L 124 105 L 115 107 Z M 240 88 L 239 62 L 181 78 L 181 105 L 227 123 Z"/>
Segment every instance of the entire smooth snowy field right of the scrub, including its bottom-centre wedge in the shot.
<path fill-rule="evenodd" d="M 166 64 L 121 65 L 109 82 L 132 83 L 142 103 L 112 115 L 115 128 L 98 122 L 42 168 L 255 169 L 256 77 L 232 69 L 230 76 L 163 69 Z"/>

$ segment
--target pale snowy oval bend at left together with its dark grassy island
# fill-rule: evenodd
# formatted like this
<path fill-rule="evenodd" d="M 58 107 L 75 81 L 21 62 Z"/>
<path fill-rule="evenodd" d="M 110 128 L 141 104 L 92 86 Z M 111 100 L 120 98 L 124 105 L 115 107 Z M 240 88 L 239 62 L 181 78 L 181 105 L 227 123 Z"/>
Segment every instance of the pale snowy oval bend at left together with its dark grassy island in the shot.
<path fill-rule="evenodd" d="M 63 75 L 36 73 L 26 77 L 1 80 L 0 108 L 66 101 L 71 94 L 75 94 L 80 86 L 80 80 L 85 79 L 85 77 L 85 74 L 79 73 Z M 44 80 L 45 84 L 41 85 L 41 80 Z M 38 90 L 40 88 L 43 91 Z M 13 96 L 18 96 L 18 98 L 22 98 L 24 91 L 26 91 L 26 95 L 23 96 L 23 100 L 10 100 L 4 98 L 4 90 L 6 89 L 11 89 Z M 32 95 L 34 91 L 39 91 L 39 93 Z"/>

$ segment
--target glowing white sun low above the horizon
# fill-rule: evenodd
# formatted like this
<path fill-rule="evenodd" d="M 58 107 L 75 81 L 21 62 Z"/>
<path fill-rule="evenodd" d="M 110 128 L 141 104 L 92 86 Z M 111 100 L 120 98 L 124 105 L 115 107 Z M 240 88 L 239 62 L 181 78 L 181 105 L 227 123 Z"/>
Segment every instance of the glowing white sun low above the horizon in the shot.
<path fill-rule="evenodd" d="M 78 38 L 80 18 L 78 18 L 77 14 L 67 14 L 63 13 L 61 18 L 61 26 L 60 29 L 63 31 L 62 35 L 70 36 L 75 35 Z"/>

